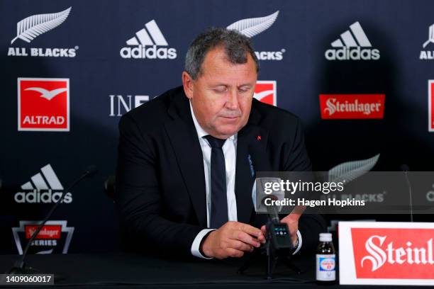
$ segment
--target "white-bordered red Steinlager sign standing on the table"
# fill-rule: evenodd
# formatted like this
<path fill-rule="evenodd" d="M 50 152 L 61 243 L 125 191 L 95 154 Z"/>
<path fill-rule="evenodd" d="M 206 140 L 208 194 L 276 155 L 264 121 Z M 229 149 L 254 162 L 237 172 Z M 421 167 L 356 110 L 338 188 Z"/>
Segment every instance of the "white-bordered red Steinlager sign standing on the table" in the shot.
<path fill-rule="evenodd" d="M 339 222 L 340 284 L 434 285 L 434 225 Z"/>

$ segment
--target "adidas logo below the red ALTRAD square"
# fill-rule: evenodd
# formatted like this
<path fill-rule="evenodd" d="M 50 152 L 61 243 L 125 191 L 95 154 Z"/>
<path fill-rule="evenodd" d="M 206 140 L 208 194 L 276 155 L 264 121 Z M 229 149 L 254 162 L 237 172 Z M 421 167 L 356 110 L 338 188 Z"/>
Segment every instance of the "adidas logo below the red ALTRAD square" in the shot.
<path fill-rule="evenodd" d="M 56 203 L 62 196 L 63 186 L 50 164 L 40 169 L 40 173 L 21 186 L 23 192 L 14 196 L 16 203 Z M 62 203 L 71 203 L 72 194 L 66 193 Z"/>

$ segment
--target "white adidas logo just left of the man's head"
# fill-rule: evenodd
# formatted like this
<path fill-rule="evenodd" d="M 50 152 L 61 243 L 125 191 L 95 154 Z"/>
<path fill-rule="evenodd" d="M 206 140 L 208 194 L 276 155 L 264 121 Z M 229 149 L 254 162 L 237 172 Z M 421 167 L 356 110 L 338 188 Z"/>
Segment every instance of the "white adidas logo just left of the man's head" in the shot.
<path fill-rule="evenodd" d="M 145 28 L 138 30 L 133 38 L 126 41 L 126 44 L 135 47 L 123 47 L 121 49 L 123 58 L 160 60 L 177 58 L 177 50 L 174 48 L 157 48 L 157 46 L 168 46 L 168 43 L 155 20 L 146 23 Z"/>

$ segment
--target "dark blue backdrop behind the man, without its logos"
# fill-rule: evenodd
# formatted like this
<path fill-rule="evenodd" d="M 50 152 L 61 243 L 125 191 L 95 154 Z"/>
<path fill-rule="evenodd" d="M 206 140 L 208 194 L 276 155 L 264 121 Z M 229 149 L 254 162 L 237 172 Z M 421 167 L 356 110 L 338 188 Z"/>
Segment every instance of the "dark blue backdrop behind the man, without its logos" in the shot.
<path fill-rule="evenodd" d="M 11 44 L 19 21 L 69 7 L 60 25 L 30 42 L 18 38 Z M 314 169 L 326 171 L 380 154 L 377 170 L 399 170 L 400 164 L 408 164 L 413 171 L 433 171 L 428 81 L 434 79 L 434 62 L 420 59 L 421 51 L 434 50 L 433 43 L 423 47 L 434 23 L 433 9 L 429 0 L 1 0 L 0 251 L 16 252 L 11 228 L 20 227 L 20 220 L 40 220 L 46 212 L 49 204 L 16 203 L 15 196 L 47 164 L 64 187 L 88 164 L 99 167 L 93 179 L 72 191 L 72 202 L 60 205 L 52 220 L 67 220 L 67 227 L 74 227 L 70 252 L 116 250 L 118 224 L 103 185 L 116 167 L 118 112 L 126 112 L 121 101 L 131 100 L 134 106 L 135 98 L 143 99 L 137 96 L 153 98 L 181 84 L 189 42 L 205 28 L 276 11 L 272 26 L 252 41 L 257 52 L 281 52 L 282 60 L 261 60 L 259 79 L 276 81 L 277 105 L 303 120 Z M 152 20 L 168 44 L 156 49 L 173 48 L 177 57 L 121 57 L 123 47 L 136 47 L 126 41 Z M 342 39 L 356 21 L 372 44 L 361 48 L 379 50 L 379 60 L 325 59 L 325 51 L 335 49 L 331 43 Z M 145 30 L 157 42 L 155 29 Z M 73 49 L 75 56 L 31 56 L 32 47 Z M 28 56 L 11 55 L 23 48 Z M 69 79 L 69 131 L 18 131 L 18 78 Z M 384 118 L 323 120 L 320 94 L 385 94 Z M 62 246 L 57 251 L 62 251 L 64 241 L 57 243 Z M 35 251 L 52 246 L 42 242 Z"/>

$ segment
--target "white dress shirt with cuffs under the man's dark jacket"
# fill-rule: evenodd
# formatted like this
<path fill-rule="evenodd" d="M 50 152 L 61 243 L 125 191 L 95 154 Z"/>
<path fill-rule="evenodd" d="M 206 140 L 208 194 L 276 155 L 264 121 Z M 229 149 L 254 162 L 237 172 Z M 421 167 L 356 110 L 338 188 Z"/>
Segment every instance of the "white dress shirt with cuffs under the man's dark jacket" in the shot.
<path fill-rule="evenodd" d="M 196 116 L 194 115 L 193 108 L 190 103 L 191 116 L 193 117 L 194 128 L 196 128 L 197 136 L 199 137 L 199 143 L 202 149 L 202 156 L 204 157 L 204 173 L 205 173 L 205 191 L 206 191 L 206 224 L 209 228 L 210 212 L 211 212 L 211 145 L 209 145 L 208 140 L 204 136 L 209 135 L 201 125 L 197 122 Z M 228 198 L 228 220 L 237 221 L 237 201 L 235 198 L 235 168 L 236 168 L 236 154 L 237 154 L 237 134 L 230 136 L 223 147 L 223 154 L 225 156 L 225 167 L 226 167 L 226 196 Z M 202 229 L 196 238 L 194 238 L 193 244 L 191 244 L 191 254 L 193 256 L 206 258 L 199 251 L 202 239 L 208 234 L 218 228 Z M 298 252 L 301 248 L 301 234 L 297 231 L 299 237 L 299 245 L 297 246 L 294 254 Z"/>

